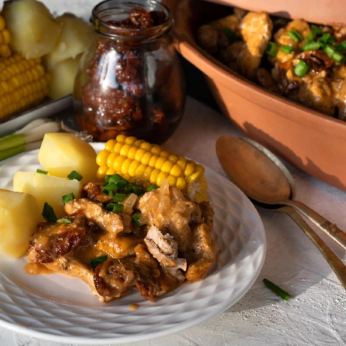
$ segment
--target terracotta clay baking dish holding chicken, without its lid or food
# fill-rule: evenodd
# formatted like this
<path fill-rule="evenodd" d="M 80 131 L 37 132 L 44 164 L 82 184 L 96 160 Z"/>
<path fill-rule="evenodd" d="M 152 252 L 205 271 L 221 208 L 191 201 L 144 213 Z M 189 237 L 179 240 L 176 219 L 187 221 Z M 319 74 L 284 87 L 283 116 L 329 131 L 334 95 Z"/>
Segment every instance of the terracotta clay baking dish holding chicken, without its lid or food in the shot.
<path fill-rule="evenodd" d="M 230 13 L 215 3 L 182 0 L 174 10 L 176 49 L 204 73 L 221 111 L 246 136 L 346 191 L 346 122 L 262 89 L 197 44 L 202 24 Z"/>

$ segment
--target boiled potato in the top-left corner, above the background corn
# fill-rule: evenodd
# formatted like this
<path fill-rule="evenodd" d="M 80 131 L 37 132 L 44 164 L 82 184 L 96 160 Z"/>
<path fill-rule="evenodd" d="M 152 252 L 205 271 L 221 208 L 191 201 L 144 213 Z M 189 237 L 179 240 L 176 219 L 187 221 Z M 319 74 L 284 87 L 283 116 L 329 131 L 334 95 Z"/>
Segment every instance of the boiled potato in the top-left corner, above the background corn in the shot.
<path fill-rule="evenodd" d="M 4 1 L 2 16 L 11 33 L 10 47 L 26 58 L 51 53 L 60 25 L 43 3 L 36 0 Z"/>

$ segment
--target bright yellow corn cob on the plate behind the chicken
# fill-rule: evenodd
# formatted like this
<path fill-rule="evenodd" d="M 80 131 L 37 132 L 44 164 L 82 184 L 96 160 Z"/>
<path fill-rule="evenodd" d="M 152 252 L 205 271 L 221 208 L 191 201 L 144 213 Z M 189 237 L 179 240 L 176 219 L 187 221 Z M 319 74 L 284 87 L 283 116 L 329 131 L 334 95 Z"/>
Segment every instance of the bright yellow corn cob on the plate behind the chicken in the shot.
<path fill-rule="evenodd" d="M 145 188 L 152 184 L 160 186 L 166 179 L 170 186 L 185 190 L 193 201 L 207 199 L 202 165 L 144 140 L 123 135 L 108 140 L 96 162 L 100 166 L 99 179 L 106 174 L 120 174 Z"/>

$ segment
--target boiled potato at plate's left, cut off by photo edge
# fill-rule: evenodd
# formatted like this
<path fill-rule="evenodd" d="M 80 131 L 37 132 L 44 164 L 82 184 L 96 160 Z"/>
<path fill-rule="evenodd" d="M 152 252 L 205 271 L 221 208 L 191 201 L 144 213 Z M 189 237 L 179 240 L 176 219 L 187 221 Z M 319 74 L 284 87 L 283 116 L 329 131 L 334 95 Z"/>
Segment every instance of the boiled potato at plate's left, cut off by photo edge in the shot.
<path fill-rule="evenodd" d="M 35 197 L 0 189 L 0 253 L 10 257 L 26 254 L 29 237 L 43 221 Z"/>

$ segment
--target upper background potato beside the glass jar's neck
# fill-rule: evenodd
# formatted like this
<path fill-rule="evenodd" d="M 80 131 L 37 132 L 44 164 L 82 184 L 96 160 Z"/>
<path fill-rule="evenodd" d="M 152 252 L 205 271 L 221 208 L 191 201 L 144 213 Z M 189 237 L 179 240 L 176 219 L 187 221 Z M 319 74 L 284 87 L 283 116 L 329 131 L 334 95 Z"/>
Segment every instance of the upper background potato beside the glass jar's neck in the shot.
<path fill-rule="evenodd" d="M 60 35 L 51 53 L 44 57 L 48 70 L 64 60 L 75 58 L 83 53 L 93 39 L 91 24 L 71 13 L 55 19 L 61 27 Z"/>

